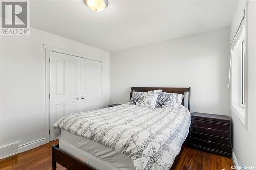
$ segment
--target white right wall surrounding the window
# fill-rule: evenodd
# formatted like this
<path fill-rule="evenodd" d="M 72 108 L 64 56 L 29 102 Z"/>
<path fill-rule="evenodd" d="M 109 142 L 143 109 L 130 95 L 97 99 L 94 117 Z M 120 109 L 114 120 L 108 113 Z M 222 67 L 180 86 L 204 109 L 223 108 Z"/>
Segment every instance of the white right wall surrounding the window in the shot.
<path fill-rule="evenodd" d="M 231 40 L 236 32 L 239 23 L 243 16 L 243 8 L 245 1 L 240 1 L 238 4 L 236 15 L 232 23 Z M 241 123 L 236 113 L 231 110 L 231 117 L 233 120 L 234 133 L 234 160 L 239 166 L 256 166 L 256 2 L 249 1 L 247 8 L 247 128 Z"/>

